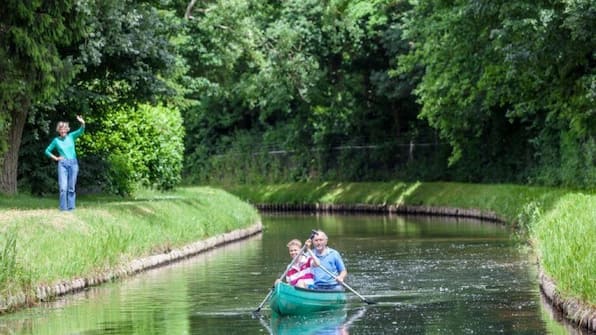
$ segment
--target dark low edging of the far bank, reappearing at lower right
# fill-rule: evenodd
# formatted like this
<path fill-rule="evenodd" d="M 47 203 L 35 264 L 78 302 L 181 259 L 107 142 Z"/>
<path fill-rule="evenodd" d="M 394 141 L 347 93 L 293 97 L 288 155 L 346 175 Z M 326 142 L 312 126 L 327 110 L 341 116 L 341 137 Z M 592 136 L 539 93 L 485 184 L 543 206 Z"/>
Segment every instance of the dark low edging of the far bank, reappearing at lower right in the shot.
<path fill-rule="evenodd" d="M 321 213 L 378 213 L 400 215 L 434 215 L 460 218 L 479 219 L 505 224 L 506 219 L 491 211 L 465 209 L 453 207 L 433 207 L 414 205 L 371 205 L 371 204 L 253 204 L 260 211 L 315 211 Z M 565 319 L 582 328 L 596 331 L 596 308 L 583 304 L 573 298 L 566 298 L 559 294 L 555 281 L 540 270 L 538 276 L 540 291 L 547 301 L 559 311 Z"/>

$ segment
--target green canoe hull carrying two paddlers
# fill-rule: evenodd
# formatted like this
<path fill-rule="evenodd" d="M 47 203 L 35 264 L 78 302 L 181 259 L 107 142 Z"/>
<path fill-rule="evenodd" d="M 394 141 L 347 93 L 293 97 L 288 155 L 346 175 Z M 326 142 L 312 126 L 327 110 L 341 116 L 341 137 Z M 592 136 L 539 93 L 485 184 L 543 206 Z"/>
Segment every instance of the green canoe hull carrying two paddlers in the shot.
<path fill-rule="evenodd" d="M 275 284 L 269 306 L 279 315 L 304 315 L 313 312 L 343 308 L 346 294 L 343 291 L 317 291 Z"/>

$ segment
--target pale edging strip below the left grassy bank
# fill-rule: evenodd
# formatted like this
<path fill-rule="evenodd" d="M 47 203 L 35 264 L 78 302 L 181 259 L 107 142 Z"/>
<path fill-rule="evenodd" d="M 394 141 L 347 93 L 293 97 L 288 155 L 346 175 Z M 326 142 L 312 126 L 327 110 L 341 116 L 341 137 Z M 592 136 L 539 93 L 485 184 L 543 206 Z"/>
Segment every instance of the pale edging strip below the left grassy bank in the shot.
<path fill-rule="evenodd" d="M 40 285 L 35 288 L 35 298 L 20 293 L 7 297 L 5 301 L 0 301 L 0 313 L 6 313 L 19 308 L 34 306 L 43 301 L 50 301 L 57 297 L 82 291 L 92 286 L 98 286 L 102 283 L 129 277 L 143 271 L 164 266 L 200 253 L 221 247 L 223 245 L 249 238 L 261 233 L 263 225 L 260 220 L 253 225 L 236 229 L 228 233 L 215 235 L 204 240 L 199 240 L 180 248 L 169 250 L 167 253 L 154 254 L 147 257 L 135 259 L 127 264 L 117 268 L 96 274 L 92 277 L 76 278 L 69 281 L 62 281 L 54 285 Z"/>

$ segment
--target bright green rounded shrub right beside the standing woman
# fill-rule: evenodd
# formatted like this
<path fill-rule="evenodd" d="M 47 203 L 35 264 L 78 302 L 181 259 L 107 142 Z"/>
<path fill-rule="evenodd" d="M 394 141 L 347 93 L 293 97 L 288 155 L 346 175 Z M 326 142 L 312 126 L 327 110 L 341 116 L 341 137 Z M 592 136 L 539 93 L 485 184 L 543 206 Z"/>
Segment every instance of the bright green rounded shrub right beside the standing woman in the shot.
<path fill-rule="evenodd" d="M 107 166 L 95 176 L 105 180 L 103 191 L 130 195 L 141 186 L 169 190 L 180 182 L 184 129 L 178 110 L 142 105 L 113 110 L 98 122 L 81 146 Z"/>

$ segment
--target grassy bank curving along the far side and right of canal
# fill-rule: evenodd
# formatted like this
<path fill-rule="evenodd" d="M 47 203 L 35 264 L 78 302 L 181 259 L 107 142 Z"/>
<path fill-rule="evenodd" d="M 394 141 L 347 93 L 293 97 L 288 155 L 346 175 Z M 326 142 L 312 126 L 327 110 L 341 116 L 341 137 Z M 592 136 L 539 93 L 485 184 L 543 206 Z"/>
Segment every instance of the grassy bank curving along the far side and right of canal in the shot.
<path fill-rule="evenodd" d="M 403 204 L 497 213 L 530 232 L 542 268 L 566 297 L 596 305 L 594 192 L 461 183 L 300 183 L 226 187 L 251 203 Z"/>

